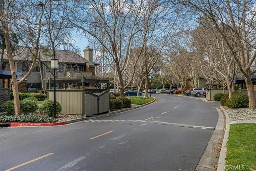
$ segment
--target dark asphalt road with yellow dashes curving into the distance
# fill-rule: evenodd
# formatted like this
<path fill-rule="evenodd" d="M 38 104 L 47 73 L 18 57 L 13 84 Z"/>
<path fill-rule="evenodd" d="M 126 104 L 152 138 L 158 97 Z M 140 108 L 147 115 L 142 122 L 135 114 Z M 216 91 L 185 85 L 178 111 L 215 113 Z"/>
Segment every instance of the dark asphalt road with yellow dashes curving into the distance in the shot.
<path fill-rule="evenodd" d="M 0 129 L 0 171 L 194 170 L 218 121 L 214 106 L 154 94 L 131 111 L 55 127 Z"/>

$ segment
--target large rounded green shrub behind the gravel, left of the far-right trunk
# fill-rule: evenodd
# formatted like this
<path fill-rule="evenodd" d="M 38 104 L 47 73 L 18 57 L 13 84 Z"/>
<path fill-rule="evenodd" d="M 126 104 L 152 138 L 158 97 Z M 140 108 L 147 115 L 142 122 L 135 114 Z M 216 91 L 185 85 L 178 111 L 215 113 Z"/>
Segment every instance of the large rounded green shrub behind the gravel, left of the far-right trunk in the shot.
<path fill-rule="evenodd" d="M 247 94 L 233 93 L 232 97 L 226 101 L 226 105 L 232 108 L 247 107 L 249 104 L 249 97 Z"/>

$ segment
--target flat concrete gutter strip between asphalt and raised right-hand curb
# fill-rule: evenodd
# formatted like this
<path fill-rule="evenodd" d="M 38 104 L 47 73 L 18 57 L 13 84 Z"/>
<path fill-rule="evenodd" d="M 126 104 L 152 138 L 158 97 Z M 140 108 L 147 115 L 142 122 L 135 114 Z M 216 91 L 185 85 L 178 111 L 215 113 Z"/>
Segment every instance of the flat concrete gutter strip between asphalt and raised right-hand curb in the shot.
<path fill-rule="evenodd" d="M 224 135 L 223 128 L 225 126 L 225 116 L 218 107 L 215 107 L 215 109 L 218 111 L 218 122 L 196 166 L 196 171 L 212 171 L 214 169 L 214 163 L 218 163 L 218 158 L 216 158 L 216 148 L 219 146 L 219 139 Z"/>

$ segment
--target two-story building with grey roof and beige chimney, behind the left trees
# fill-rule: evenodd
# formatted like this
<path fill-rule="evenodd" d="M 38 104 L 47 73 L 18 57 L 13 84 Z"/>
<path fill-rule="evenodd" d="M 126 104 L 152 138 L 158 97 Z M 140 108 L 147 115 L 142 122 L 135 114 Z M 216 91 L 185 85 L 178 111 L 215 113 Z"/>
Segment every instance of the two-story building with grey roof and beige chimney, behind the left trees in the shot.
<path fill-rule="evenodd" d="M 95 76 L 95 66 L 99 65 L 93 62 L 93 53 L 92 49 L 88 46 L 84 49 L 84 56 L 70 51 L 70 50 L 55 50 L 56 59 L 59 60 L 59 70 L 56 71 L 56 77 L 66 78 L 66 77 L 80 77 L 85 76 Z M 52 50 L 40 49 L 36 65 L 33 68 L 30 76 L 24 81 L 23 84 L 19 85 L 20 92 L 24 92 L 26 89 L 27 92 L 35 91 L 36 89 L 42 89 L 41 74 L 40 74 L 40 65 L 42 71 L 42 80 L 47 78 L 53 78 L 52 70 L 50 70 L 50 61 L 52 57 Z M 32 53 L 28 48 L 26 48 L 22 54 L 14 57 L 15 68 L 17 72 L 21 72 L 22 76 L 19 76 L 19 79 L 28 73 L 28 70 L 32 64 Z M 8 64 L 8 57 L 4 54 L 4 63 L 2 64 L 1 70 L 10 71 L 10 66 Z M 0 79 L 0 88 L 5 88 L 7 86 L 7 80 Z M 26 88 L 24 88 L 24 86 Z M 53 86 L 53 84 L 51 85 Z M 89 84 L 86 86 L 94 87 L 94 84 Z M 44 88 L 49 89 L 49 84 L 44 81 Z"/>

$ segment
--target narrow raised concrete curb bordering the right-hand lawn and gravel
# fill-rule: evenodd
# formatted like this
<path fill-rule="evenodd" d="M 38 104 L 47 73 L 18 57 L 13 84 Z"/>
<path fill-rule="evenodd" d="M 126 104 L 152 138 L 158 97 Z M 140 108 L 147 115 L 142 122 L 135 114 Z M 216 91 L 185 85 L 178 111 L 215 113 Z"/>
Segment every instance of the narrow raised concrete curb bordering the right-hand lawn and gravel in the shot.
<path fill-rule="evenodd" d="M 220 150 L 220 158 L 218 161 L 217 171 L 224 171 L 226 166 L 227 141 L 228 141 L 228 133 L 230 129 L 230 119 L 228 116 L 228 112 L 222 106 L 220 106 L 220 109 L 223 111 L 226 117 L 226 130 L 225 130 L 225 134 L 223 137 L 223 142 Z"/>

